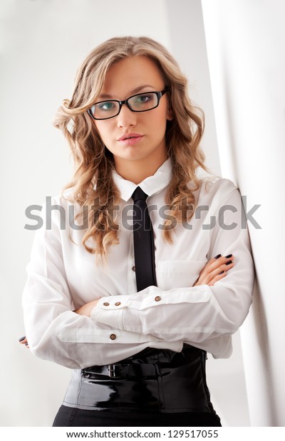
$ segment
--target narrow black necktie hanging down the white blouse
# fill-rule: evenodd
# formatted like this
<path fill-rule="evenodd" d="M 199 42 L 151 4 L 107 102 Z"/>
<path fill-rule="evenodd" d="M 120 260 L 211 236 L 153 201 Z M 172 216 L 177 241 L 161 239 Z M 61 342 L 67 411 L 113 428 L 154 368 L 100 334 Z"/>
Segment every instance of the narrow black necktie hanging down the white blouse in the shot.
<path fill-rule="evenodd" d="M 145 202 L 147 194 L 140 187 L 135 188 L 132 195 L 133 205 L 133 237 L 135 249 L 135 277 L 138 291 L 156 286 L 155 277 L 155 243 L 153 240 L 152 223 Z"/>

